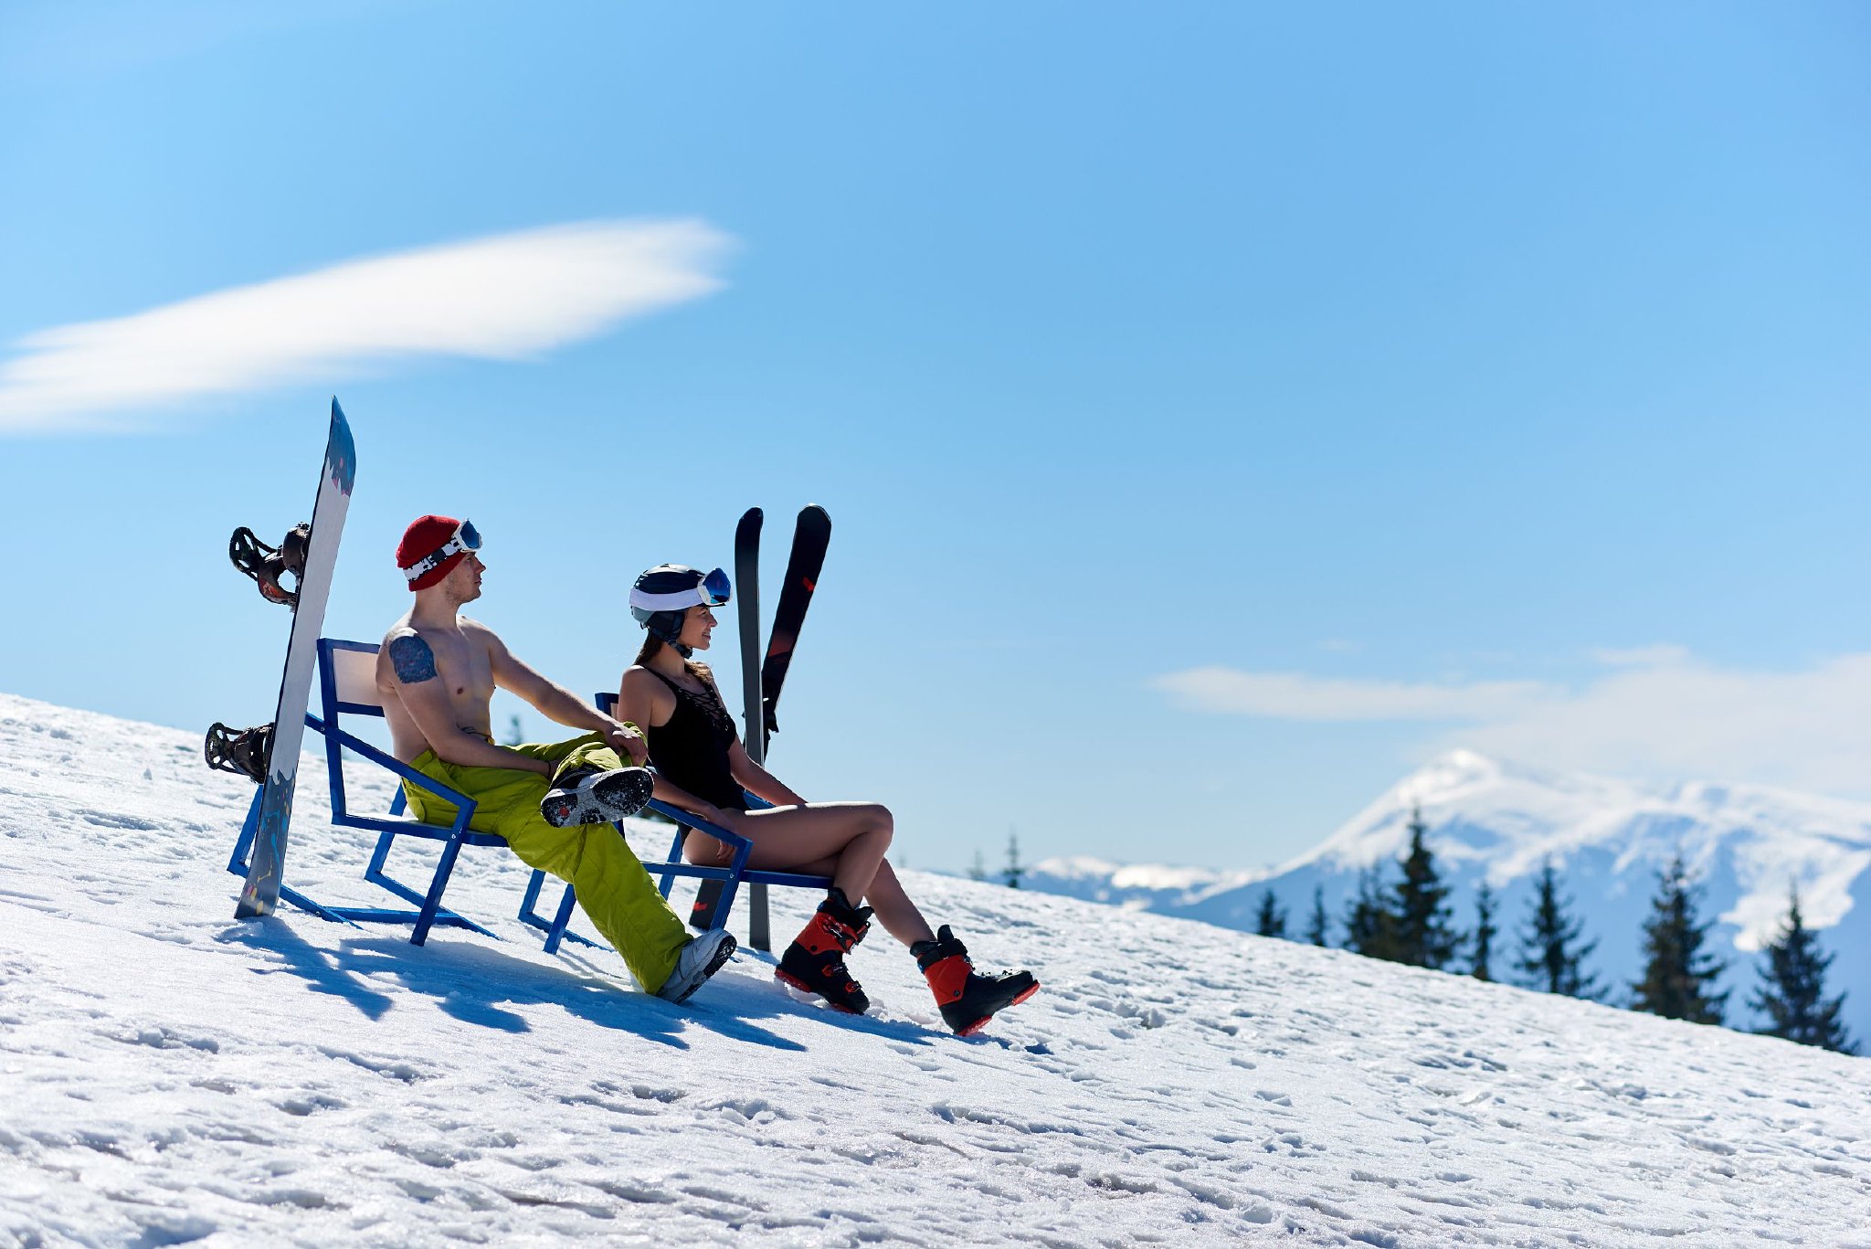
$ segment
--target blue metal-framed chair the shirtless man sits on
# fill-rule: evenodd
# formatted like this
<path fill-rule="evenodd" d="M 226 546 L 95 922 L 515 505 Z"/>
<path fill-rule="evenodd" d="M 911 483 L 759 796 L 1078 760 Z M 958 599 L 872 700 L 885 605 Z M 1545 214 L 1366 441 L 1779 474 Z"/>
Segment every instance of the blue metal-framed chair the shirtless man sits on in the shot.
<path fill-rule="evenodd" d="M 305 727 L 322 734 L 326 740 L 326 773 L 331 781 L 331 822 L 341 828 L 363 828 L 378 833 L 376 850 L 370 854 L 370 863 L 363 873 L 365 880 L 389 889 L 406 903 L 412 903 L 415 910 L 382 906 L 326 906 L 322 903 L 314 903 L 303 893 L 297 893 L 296 889 L 281 889 L 279 895 L 294 906 L 322 916 L 324 919 L 352 923 L 410 923 L 413 925 L 410 934 L 412 946 L 427 942 L 428 931 L 436 925 L 470 929 L 473 933 L 481 933 L 483 936 L 494 936 L 500 940 L 494 933 L 488 933 L 473 919 L 468 919 L 453 910 L 443 910 L 442 895 L 447 889 L 449 874 L 455 871 L 455 860 L 460 856 L 462 846 L 505 846 L 507 843 L 494 833 L 479 833 L 468 828 L 475 809 L 475 801 L 471 798 L 455 792 L 440 781 L 425 777 L 421 771 L 410 768 L 393 755 L 387 755 L 369 742 L 346 732 L 339 723 L 341 715 L 384 715 L 384 704 L 376 693 L 376 650 L 374 642 L 346 642 L 329 637 L 318 639 L 318 706 L 324 715 L 307 713 Z M 397 796 L 389 805 L 389 816 L 359 815 L 352 811 L 344 796 L 346 749 L 355 751 L 365 760 L 389 770 L 399 779 L 453 803 L 457 809 L 455 822 L 442 826 L 399 818 L 408 807 L 400 785 L 397 786 Z M 234 845 L 234 856 L 228 860 L 228 871 L 238 876 L 247 874 L 245 860 L 253 846 L 258 818 L 260 796 L 254 794 L 253 807 L 247 811 L 247 822 L 241 826 L 239 841 Z M 428 888 L 421 893 L 384 871 L 397 837 L 421 837 L 425 841 L 443 843 L 436 873 L 428 880 Z M 558 951 L 559 942 L 565 936 L 571 936 L 586 946 L 595 946 L 597 942 L 589 942 L 576 933 L 565 931 L 573 910 L 571 886 L 565 886 L 565 897 L 559 901 L 558 916 L 552 921 L 537 914 L 535 906 L 539 903 L 539 891 L 544 886 L 544 878 L 546 873 L 533 871 L 533 876 L 526 886 L 526 895 L 520 901 L 520 921 L 546 934 L 548 951 Z"/>

